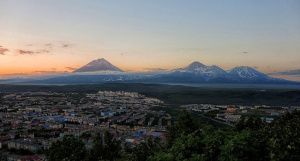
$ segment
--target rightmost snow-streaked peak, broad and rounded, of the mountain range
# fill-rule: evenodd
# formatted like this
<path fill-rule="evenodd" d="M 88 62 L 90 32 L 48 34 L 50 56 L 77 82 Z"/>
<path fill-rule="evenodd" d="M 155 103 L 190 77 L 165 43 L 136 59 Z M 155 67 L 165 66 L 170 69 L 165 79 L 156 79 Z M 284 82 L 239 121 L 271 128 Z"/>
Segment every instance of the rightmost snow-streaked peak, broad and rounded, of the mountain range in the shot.
<path fill-rule="evenodd" d="M 230 76 L 239 79 L 269 79 L 269 76 L 266 74 L 247 66 L 235 67 L 228 73 Z"/>

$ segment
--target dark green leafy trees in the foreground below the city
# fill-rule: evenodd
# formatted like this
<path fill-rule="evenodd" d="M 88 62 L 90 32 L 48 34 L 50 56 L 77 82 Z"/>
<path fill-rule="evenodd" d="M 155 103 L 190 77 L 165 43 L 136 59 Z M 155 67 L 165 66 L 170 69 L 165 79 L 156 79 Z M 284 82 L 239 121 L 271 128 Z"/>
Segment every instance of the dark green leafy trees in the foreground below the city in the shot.
<path fill-rule="evenodd" d="M 182 112 L 169 129 L 168 144 L 149 138 L 136 147 L 121 148 L 111 134 L 96 137 L 91 150 L 74 137 L 53 144 L 49 161 L 296 161 L 300 160 L 300 112 L 271 124 L 244 118 L 234 128 L 199 124 Z"/>

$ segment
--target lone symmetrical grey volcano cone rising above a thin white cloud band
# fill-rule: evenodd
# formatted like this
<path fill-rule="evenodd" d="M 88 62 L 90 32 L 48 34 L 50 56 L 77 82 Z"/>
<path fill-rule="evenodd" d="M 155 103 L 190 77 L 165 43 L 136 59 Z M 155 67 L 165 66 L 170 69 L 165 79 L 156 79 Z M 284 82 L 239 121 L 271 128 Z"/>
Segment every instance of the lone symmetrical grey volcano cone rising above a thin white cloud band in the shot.
<path fill-rule="evenodd" d="M 87 65 L 77 69 L 74 73 L 95 73 L 95 72 L 123 72 L 120 68 L 112 65 L 110 62 L 102 59 L 93 60 Z"/>

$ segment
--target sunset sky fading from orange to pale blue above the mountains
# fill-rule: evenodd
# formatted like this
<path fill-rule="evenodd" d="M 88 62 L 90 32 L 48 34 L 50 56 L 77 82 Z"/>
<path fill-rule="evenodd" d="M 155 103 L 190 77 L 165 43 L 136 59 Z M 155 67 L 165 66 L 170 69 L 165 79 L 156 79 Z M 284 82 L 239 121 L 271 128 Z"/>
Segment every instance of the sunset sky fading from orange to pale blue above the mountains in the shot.
<path fill-rule="evenodd" d="M 0 0 L 0 26 L 2 76 L 98 58 L 125 71 L 300 69 L 299 0 Z"/>

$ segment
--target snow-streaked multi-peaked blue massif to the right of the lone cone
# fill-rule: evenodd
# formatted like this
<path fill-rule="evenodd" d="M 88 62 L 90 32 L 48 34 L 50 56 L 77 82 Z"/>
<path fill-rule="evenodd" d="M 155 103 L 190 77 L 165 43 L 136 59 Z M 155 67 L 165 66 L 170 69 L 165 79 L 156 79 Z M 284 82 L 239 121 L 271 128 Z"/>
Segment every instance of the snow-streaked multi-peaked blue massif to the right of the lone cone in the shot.
<path fill-rule="evenodd" d="M 275 79 L 251 67 L 240 66 L 229 71 L 200 62 L 193 62 L 185 68 L 159 75 L 157 82 L 192 82 L 192 83 L 286 83 Z"/>

